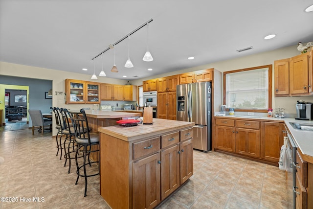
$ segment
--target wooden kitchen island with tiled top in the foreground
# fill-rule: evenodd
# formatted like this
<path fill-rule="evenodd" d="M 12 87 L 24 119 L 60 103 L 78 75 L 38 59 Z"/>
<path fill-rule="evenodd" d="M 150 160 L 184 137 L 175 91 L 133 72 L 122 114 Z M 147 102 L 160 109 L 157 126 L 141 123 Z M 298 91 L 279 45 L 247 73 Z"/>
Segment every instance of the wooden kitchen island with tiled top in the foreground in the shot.
<path fill-rule="evenodd" d="M 193 175 L 194 124 L 98 128 L 100 193 L 112 209 L 154 208 Z"/>

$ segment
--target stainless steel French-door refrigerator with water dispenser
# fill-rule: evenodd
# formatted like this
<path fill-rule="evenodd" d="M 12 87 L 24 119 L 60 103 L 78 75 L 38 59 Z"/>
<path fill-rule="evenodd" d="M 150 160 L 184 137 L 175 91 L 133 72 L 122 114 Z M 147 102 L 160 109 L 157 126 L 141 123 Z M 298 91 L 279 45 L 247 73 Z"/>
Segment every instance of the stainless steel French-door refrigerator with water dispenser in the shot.
<path fill-rule="evenodd" d="M 195 122 L 194 149 L 211 150 L 211 82 L 177 85 L 177 120 Z"/>

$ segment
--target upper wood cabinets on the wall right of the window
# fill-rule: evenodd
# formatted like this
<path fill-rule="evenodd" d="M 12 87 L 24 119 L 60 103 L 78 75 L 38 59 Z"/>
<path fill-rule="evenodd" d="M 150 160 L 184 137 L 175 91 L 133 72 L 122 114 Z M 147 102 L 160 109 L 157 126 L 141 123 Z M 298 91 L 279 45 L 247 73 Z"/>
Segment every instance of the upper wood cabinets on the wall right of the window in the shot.
<path fill-rule="evenodd" d="M 274 61 L 275 96 L 312 94 L 312 53 Z"/>

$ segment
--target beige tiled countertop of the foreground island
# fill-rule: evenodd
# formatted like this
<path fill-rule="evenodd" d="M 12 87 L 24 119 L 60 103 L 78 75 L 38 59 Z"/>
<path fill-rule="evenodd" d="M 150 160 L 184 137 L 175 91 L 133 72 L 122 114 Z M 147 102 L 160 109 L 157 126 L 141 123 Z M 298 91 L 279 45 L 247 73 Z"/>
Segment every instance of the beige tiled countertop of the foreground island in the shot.
<path fill-rule="evenodd" d="M 152 138 L 178 129 L 189 128 L 193 125 L 195 125 L 194 122 L 153 118 L 152 125 L 144 125 L 142 123 L 131 127 L 115 125 L 98 128 L 98 131 L 118 139 L 133 141 L 136 139 Z"/>

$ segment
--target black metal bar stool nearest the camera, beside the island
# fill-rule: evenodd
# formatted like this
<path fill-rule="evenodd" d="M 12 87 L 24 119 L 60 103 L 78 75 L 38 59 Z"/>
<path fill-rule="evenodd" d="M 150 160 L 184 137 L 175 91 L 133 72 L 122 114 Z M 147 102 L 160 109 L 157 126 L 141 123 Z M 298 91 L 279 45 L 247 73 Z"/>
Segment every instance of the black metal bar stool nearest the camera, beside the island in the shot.
<path fill-rule="evenodd" d="M 85 194 L 84 197 L 87 196 L 87 178 L 91 176 L 99 175 L 99 161 L 90 162 L 89 156 L 90 153 L 98 152 L 99 149 L 91 150 L 91 146 L 99 145 L 99 134 L 90 133 L 88 120 L 86 117 L 86 113 L 84 109 L 81 109 L 79 113 L 68 112 L 70 119 L 73 123 L 74 133 L 75 133 L 75 143 L 77 144 L 76 154 L 75 154 L 75 162 L 77 167 L 77 179 L 75 185 L 78 183 L 79 177 L 84 177 L 85 179 Z M 88 131 L 87 131 L 88 130 Z M 78 164 L 78 155 L 82 153 L 83 156 L 83 164 Z M 88 162 L 86 162 L 88 159 Z M 98 157 L 99 159 L 99 157 Z M 97 163 L 98 167 L 97 171 L 93 169 L 86 169 L 86 165 Z"/>

